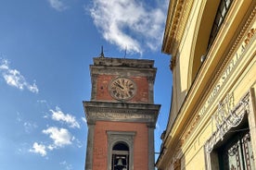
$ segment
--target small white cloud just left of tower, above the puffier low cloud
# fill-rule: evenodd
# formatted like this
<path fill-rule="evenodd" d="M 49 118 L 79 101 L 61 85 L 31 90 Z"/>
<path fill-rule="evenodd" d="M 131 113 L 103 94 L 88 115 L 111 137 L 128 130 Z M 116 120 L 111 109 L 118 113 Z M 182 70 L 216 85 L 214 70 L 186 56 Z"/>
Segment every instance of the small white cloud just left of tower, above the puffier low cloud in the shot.
<path fill-rule="evenodd" d="M 64 114 L 59 107 L 56 107 L 56 110 L 50 109 L 52 113 L 52 119 L 67 123 L 70 128 L 80 128 L 79 123 L 76 121 L 73 115 Z"/>

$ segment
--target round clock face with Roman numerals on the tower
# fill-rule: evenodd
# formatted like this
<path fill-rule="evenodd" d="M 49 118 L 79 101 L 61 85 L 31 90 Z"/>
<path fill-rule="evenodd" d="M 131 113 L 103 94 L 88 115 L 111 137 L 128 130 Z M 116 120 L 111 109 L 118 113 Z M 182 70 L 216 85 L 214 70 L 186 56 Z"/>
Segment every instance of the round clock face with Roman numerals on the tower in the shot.
<path fill-rule="evenodd" d="M 117 100 L 129 100 L 134 97 L 136 85 L 131 79 L 113 79 L 109 84 L 109 91 L 111 96 Z"/>

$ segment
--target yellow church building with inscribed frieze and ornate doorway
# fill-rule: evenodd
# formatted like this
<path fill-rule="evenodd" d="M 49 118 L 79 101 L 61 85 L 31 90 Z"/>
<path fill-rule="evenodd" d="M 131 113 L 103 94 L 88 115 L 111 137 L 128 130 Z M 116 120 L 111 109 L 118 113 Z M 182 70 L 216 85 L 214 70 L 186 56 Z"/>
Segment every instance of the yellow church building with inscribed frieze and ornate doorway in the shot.
<path fill-rule="evenodd" d="M 255 4 L 170 1 L 173 100 L 158 169 L 256 169 Z"/>

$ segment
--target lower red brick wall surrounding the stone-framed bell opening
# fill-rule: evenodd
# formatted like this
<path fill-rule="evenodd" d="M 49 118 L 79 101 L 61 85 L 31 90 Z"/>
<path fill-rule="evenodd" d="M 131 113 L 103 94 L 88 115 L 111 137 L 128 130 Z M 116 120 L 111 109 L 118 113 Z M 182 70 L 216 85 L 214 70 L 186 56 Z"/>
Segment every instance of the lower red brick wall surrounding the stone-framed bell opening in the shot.
<path fill-rule="evenodd" d="M 105 170 L 108 165 L 108 135 L 111 131 L 136 131 L 134 136 L 134 170 L 147 170 L 148 134 L 143 123 L 97 121 L 94 136 L 94 170 Z"/>

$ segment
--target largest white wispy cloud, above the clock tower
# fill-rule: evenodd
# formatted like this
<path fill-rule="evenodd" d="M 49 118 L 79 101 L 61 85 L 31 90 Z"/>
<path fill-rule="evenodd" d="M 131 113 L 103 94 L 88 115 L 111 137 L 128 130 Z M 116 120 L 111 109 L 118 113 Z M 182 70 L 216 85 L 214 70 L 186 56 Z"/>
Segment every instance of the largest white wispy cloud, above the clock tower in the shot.
<path fill-rule="evenodd" d="M 136 0 L 95 0 L 89 12 L 105 40 L 128 53 L 143 54 L 160 47 L 166 10 L 167 5 L 157 1 L 150 7 Z"/>

